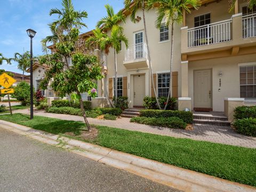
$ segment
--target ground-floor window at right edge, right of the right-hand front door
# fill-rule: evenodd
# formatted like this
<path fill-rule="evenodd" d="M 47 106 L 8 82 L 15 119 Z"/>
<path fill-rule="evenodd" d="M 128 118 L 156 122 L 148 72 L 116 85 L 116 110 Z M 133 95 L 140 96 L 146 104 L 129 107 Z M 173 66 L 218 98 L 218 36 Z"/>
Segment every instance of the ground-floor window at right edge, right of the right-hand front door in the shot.
<path fill-rule="evenodd" d="M 240 97 L 256 98 L 256 65 L 240 67 Z"/>

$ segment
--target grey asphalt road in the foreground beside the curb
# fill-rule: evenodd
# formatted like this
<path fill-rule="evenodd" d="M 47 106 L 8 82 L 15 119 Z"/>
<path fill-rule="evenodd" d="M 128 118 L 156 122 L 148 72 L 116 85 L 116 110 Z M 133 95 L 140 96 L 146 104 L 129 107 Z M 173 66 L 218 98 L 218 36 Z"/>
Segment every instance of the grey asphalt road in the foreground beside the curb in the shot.
<path fill-rule="evenodd" d="M 0 128 L 0 191 L 178 191 Z"/>

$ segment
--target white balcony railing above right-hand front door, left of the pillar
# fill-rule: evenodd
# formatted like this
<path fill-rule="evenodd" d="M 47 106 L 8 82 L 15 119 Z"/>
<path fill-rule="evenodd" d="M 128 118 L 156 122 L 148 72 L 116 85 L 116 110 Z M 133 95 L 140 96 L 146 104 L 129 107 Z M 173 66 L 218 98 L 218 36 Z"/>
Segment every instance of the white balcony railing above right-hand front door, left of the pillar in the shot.
<path fill-rule="evenodd" d="M 230 41 L 231 23 L 232 20 L 229 19 L 188 29 L 188 47 Z"/>

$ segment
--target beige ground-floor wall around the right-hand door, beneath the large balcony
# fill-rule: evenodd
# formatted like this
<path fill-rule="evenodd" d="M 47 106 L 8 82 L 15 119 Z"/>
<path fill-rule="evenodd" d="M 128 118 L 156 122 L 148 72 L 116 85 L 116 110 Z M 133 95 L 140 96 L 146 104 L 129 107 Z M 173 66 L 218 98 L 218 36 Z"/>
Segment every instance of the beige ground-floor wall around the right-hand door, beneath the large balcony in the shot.
<path fill-rule="evenodd" d="M 194 70 L 212 69 L 213 111 L 224 111 L 224 98 L 240 98 L 239 63 L 255 62 L 256 55 L 245 55 L 188 62 L 189 97 L 194 108 Z M 252 65 L 249 63 L 249 65 Z M 219 73 L 222 72 L 222 77 Z M 221 78 L 221 87 L 219 79 Z M 218 91 L 219 89 L 220 92 Z"/>

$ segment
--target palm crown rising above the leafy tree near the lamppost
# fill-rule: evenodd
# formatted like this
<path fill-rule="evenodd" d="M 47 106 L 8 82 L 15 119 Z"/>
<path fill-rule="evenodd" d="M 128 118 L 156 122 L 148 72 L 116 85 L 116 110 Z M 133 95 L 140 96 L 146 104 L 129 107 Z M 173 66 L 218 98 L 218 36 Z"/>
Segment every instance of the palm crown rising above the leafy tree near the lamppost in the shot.
<path fill-rule="evenodd" d="M 47 43 L 54 44 L 58 42 L 58 34 L 70 31 L 72 28 L 81 29 L 86 27 L 85 23 L 82 22 L 84 18 L 87 18 L 88 14 L 86 11 L 75 11 L 71 0 L 62 0 L 61 5 L 63 6 L 61 10 L 57 8 L 50 10 L 49 15 L 57 14 L 58 19 L 49 24 L 52 35 L 47 36 L 41 41 L 44 50 L 46 50 Z"/>

